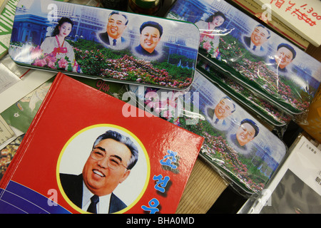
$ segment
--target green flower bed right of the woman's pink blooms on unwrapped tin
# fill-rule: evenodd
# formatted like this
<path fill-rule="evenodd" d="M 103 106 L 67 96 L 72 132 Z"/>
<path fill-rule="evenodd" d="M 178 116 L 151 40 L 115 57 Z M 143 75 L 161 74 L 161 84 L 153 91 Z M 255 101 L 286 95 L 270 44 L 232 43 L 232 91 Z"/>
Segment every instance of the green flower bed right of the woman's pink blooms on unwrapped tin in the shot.
<path fill-rule="evenodd" d="M 151 85 L 166 86 L 169 88 L 186 88 L 193 81 L 193 71 L 186 71 L 186 76 L 175 76 L 175 73 L 183 68 L 170 65 L 176 68 L 174 74 L 161 68 L 162 63 L 152 63 L 137 59 L 131 56 L 128 51 L 111 51 L 103 46 L 91 46 L 88 50 L 88 41 L 73 43 L 75 46 L 76 59 L 81 66 L 83 73 L 102 78 L 114 78 L 118 80 L 133 81 Z M 85 45 L 86 44 L 86 45 Z M 93 43 L 93 45 L 95 45 Z M 158 67 L 159 66 L 159 67 Z"/>

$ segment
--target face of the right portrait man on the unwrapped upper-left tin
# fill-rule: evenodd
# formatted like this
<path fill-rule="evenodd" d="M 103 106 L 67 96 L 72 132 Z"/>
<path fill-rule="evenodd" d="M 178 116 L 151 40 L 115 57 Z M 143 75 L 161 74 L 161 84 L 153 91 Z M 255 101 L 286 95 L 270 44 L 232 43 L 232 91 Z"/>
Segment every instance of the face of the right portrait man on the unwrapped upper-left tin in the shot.
<path fill-rule="evenodd" d="M 158 42 L 161 41 L 160 32 L 157 28 L 146 26 L 141 31 L 141 46 L 149 53 L 152 53 Z"/>

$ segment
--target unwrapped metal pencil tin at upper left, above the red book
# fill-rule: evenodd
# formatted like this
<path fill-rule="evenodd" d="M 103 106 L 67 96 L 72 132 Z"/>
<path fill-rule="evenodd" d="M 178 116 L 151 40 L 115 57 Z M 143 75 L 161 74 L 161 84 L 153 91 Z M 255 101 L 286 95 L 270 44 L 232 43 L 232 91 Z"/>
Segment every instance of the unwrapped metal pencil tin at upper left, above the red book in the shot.
<path fill-rule="evenodd" d="M 21 0 L 9 54 L 29 68 L 183 90 L 193 81 L 199 36 L 184 21 Z"/>

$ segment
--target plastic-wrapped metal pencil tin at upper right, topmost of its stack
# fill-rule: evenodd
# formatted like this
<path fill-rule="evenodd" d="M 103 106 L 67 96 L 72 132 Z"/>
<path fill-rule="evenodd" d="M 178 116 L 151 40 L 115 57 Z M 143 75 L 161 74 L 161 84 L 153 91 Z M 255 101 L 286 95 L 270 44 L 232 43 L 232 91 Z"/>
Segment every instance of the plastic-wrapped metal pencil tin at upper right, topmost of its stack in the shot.
<path fill-rule="evenodd" d="M 228 1 L 177 0 L 166 17 L 198 26 L 199 55 L 217 71 L 291 115 L 307 113 L 321 82 L 315 58 Z"/>

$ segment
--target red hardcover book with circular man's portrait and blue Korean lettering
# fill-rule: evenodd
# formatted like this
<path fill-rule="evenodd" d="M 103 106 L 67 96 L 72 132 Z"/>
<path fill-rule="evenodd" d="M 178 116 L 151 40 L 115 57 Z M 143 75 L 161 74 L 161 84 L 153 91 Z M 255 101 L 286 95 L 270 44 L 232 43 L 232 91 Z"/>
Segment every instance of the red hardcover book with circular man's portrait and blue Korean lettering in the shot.
<path fill-rule="evenodd" d="M 0 213 L 175 213 L 203 138 L 142 112 L 58 73 L 1 179 Z"/>

